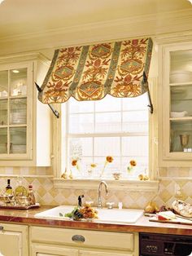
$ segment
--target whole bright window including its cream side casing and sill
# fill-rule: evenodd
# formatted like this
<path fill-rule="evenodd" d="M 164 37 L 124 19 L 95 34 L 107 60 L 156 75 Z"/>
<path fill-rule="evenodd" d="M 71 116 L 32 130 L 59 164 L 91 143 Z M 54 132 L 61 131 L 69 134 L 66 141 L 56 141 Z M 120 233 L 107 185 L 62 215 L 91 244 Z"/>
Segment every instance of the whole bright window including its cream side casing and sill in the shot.
<path fill-rule="evenodd" d="M 147 107 L 147 94 L 122 99 L 107 95 L 98 101 L 81 102 L 71 98 L 67 103 L 55 104 L 60 113 L 59 118 L 53 118 L 55 188 L 98 188 L 98 180 L 106 179 L 111 189 L 158 190 L 156 78 L 150 79 L 150 87 L 153 114 Z M 107 163 L 100 177 L 107 156 L 114 161 Z M 72 166 L 75 159 L 80 171 Z M 137 166 L 129 173 L 131 160 Z M 91 169 L 91 164 L 96 167 Z M 120 180 L 115 180 L 114 172 L 120 173 Z M 149 180 L 141 182 L 139 174 L 148 175 Z"/>

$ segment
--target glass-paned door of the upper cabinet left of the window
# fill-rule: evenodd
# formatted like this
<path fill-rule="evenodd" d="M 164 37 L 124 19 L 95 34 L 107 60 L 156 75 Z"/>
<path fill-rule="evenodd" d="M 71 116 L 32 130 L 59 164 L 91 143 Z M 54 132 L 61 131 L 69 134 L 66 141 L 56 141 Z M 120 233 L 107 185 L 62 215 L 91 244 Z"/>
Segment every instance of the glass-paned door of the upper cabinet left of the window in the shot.
<path fill-rule="evenodd" d="M 0 157 L 30 157 L 29 106 L 32 102 L 32 67 L 15 66 L 0 71 Z M 31 77 L 30 77 L 31 74 Z"/>

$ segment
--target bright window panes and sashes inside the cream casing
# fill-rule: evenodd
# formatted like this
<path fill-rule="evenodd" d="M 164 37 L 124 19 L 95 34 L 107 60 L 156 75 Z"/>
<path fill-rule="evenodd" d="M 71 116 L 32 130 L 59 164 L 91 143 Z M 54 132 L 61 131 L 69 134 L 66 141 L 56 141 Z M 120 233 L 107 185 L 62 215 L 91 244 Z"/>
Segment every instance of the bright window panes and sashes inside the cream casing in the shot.
<path fill-rule="evenodd" d="M 147 104 L 147 94 L 123 99 L 107 95 L 84 102 L 69 99 L 62 105 L 62 169 L 71 170 L 74 179 L 137 179 L 139 174 L 148 175 Z M 112 162 L 106 161 L 108 156 Z M 74 160 L 76 165 L 72 166 Z M 137 165 L 128 170 L 130 161 Z"/>

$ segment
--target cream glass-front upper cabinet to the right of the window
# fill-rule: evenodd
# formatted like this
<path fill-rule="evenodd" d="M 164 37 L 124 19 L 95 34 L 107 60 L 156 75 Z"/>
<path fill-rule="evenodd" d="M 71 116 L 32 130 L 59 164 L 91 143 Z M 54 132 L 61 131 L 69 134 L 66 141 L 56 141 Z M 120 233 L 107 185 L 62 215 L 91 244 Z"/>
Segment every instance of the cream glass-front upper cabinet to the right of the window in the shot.
<path fill-rule="evenodd" d="M 159 166 L 192 164 L 192 45 L 163 46 L 159 79 Z"/>

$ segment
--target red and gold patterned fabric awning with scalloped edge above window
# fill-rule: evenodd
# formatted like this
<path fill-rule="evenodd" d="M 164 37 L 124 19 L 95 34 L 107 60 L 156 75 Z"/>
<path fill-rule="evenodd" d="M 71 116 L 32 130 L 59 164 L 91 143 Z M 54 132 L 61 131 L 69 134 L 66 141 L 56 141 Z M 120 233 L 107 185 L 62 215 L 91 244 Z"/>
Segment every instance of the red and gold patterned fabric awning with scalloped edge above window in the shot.
<path fill-rule="evenodd" d="M 55 51 L 41 86 L 39 100 L 45 104 L 77 100 L 136 97 L 146 92 L 143 72 L 148 77 L 151 38 L 74 46 Z"/>

